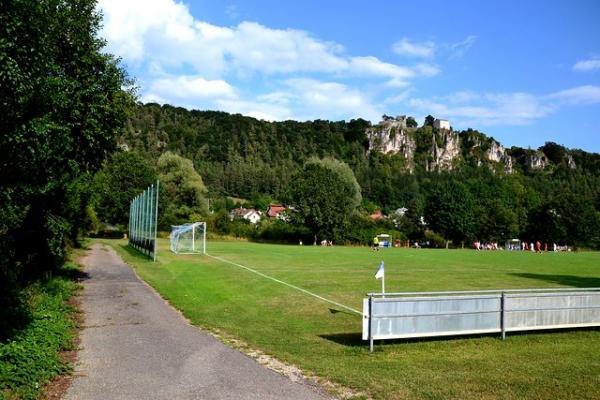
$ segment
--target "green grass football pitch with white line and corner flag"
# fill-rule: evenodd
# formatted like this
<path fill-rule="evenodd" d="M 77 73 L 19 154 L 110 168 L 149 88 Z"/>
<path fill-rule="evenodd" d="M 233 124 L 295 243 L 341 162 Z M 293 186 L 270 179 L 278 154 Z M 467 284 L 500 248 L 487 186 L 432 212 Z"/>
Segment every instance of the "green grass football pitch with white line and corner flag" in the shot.
<path fill-rule="evenodd" d="M 361 317 L 207 256 L 158 262 L 125 241 L 115 247 L 137 273 L 200 327 L 376 399 L 598 399 L 600 329 L 376 342 L 361 340 Z M 432 291 L 600 287 L 600 253 L 283 246 L 209 242 L 208 252 L 359 309 L 386 290 Z"/>

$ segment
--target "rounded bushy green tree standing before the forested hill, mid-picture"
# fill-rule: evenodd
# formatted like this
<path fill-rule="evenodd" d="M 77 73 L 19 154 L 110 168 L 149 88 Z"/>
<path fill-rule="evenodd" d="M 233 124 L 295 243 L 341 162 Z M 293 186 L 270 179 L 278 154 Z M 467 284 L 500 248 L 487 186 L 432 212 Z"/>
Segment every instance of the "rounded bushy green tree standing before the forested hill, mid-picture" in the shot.
<path fill-rule="evenodd" d="M 362 201 L 350 167 L 333 158 L 307 161 L 290 187 L 291 205 L 300 222 L 326 239 L 341 237 Z"/>

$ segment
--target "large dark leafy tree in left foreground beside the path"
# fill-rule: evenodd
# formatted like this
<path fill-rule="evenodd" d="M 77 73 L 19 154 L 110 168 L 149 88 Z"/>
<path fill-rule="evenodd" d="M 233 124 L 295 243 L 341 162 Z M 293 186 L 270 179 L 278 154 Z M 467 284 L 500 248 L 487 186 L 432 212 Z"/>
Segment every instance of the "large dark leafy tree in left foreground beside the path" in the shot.
<path fill-rule="evenodd" d="M 85 213 L 74 186 L 113 151 L 131 102 L 125 72 L 102 52 L 95 7 L 0 3 L 0 309 L 24 270 L 62 261 Z"/>

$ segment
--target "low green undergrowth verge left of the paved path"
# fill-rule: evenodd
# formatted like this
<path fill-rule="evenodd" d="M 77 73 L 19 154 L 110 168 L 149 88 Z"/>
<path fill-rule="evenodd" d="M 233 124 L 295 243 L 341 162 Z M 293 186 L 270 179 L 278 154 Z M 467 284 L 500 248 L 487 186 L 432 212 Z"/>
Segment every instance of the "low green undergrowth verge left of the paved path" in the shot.
<path fill-rule="evenodd" d="M 67 304 L 79 267 L 65 264 L 58 274 L 23 292 L 28 323 L 0 343 L 0 399 L 36 399 L 53 378 L 70 372 L 60 356 L 73 345 L 75 308 Z"/>

